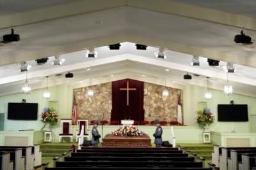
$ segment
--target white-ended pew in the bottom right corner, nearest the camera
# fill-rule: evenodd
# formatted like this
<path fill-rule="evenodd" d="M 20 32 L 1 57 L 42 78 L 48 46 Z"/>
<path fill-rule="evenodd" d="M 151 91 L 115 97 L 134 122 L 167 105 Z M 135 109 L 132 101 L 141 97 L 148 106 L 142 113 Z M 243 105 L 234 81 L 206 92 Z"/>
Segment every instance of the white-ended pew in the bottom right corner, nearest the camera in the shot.
<path fill-rule="evenodd" d="M 238 164 L 239 170 L 250 170 L 256 166 L 256 153 L 242 153 L 241 157 L 242 161 Z"/>

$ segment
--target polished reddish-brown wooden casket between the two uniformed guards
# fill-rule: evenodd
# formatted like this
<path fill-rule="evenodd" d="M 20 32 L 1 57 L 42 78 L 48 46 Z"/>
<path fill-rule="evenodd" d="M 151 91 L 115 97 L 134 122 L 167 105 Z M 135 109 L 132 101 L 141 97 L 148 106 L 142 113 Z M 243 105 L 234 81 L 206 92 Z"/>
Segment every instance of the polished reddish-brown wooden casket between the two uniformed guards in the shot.
<path fill-rule="evenodd" d="M 102 146 L 143 146 L 151 147 L 151 139 L 147 134 L 143 136 L 115 136 L 114 134 L 106 134 L 103 138 Z"/>

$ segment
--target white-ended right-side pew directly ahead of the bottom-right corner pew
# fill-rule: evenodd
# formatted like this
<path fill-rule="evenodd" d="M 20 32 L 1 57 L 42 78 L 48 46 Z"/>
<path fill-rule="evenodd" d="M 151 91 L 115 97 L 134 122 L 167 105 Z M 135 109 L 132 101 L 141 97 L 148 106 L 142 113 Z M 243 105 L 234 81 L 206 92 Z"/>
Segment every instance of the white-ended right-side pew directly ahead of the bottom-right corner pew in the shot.
<path fill-rule="evenodd" d="M 238 162 L 242 161 L 242 153 L 256 153 L 256 150 L 230 150 L 230 157 L 228 158 L 228 169 L 238 169 Z"/>

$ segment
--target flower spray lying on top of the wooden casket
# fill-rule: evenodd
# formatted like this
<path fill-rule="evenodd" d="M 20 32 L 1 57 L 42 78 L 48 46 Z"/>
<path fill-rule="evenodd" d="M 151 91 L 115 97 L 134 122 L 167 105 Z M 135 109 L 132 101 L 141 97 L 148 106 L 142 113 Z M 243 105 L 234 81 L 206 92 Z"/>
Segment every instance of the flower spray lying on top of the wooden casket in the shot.
<path fill-rule="evenodd" d="M 116 129 L 116 131 L 111 132 L 111 134 L 115 136 L 143 136 L 143 131 L 140 131 L 138 127 L 133 125 L 123 125 Z"/>

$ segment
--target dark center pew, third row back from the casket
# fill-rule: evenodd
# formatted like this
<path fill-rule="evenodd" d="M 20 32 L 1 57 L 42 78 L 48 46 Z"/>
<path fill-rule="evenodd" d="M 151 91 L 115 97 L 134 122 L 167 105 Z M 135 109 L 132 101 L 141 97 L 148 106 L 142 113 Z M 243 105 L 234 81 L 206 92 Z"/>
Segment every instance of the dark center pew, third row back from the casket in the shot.
<path fill-rule="evenodd" d="M 102 152 L 72 152 L 71 157 L 188 157 L 188 153 L 102 153 Z"/>

